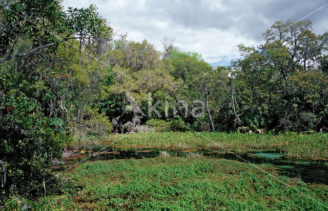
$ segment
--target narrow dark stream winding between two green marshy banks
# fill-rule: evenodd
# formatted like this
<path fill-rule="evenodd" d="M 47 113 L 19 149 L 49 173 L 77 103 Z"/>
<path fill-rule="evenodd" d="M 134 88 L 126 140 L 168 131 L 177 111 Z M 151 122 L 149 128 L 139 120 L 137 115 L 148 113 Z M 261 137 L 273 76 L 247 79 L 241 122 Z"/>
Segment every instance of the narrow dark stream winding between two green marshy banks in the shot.
<path fill-rule="evenodd" d="M 89 146 L 90 150 L 96 152 L 102 146 Z M 161 151 L 168 152 L 171 156 L 187 157 L 190 151 L 170 150 L 170 149 L 117 149 L 107 148 L 107 152 L 98 156 L 91 156 L 85 161 L 109 160 L 109 159 L 128 159 L 128 158 L 150 158 L 156 157 Z M 105 150 L 104 150 L 105 151 Z M 254 164 L 267 163 L 277 168 L 280 175 L 292 178 L 299 178 L 304 182 L 328 184 L 328 161 L 327 160 L 304 160 L 286 158 L 283 152 L 273 150 L 247 151 L 227 153 L 227 151 L 218 151 L 212 149 L 195 149 L 192 153 L 199 153 L 205 157 L 224 158 L 229 160 L 237 160 L 240 162 L 250 162 Z M 237 155 L 237 156 L 236 156 Z M 87 157 L 87 155 L 85 156 Z M 85 157 L 73 158 L 72 163 L 77 163 Z"/>

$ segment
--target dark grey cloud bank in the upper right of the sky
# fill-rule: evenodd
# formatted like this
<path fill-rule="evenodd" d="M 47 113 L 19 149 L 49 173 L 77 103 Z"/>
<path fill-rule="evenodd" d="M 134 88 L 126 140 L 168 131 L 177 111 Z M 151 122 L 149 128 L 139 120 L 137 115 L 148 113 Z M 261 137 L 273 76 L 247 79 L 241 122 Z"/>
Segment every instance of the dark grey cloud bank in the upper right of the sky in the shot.
<path fill-rule="evenodd" d="M 160 6 L 162 18 L 170 18 L 187 28 L 234 30 L 260 40 L 261 34 L 277 20 L 297 21 L 327 2 L 322 1 L 169 1 L 167 4 L 147 1 L 151 10 Z M 326 21 L 328 7 L 313 18 Z M 327 29 L 326 29 L 327 30 Z M 321 30 L 318 30 L 321 32 Z"/>

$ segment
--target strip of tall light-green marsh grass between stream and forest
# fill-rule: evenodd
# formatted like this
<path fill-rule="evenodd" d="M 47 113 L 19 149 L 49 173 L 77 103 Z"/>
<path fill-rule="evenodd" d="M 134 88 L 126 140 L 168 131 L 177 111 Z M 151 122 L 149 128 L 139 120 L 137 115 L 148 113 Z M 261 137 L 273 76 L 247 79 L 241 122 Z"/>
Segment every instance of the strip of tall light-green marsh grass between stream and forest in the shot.
<path fill-rule="evenodd" d="M 200 134 L 200 135 L 199 135 Z M 172 149 L 193 149 L 197 147 L 252 150 L 273 148 L 286 151 L 295 158 L 328 158 L 328 134 L 242 134 L 224 132 L 161 132 L 109 135 L 101 143 L 114 144 L 118 148 L 161 147 Z M 213 142 L 211 142 L 210 140 Z"/>

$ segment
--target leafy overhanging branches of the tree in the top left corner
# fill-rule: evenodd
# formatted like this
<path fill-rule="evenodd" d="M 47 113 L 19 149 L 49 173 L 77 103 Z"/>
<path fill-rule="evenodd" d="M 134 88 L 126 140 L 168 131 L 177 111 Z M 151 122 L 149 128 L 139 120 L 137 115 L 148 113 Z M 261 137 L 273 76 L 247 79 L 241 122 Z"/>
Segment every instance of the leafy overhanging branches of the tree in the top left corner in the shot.
<path fill-rule="evenodd" d="M 27 57 L 42 49 L 53 52 L 58 43 L 79 39 L 80 43 L 96 36 L 111 35 L 112 28 L 96 12 L 95 6 L 76 9 L 65 13 L 59 1 L 17 1 L 2 8 L 4 19 L 0 32 L 0 63 Z M 24 49 L 16 48 L 20 39 L 30 40 Z M 23 51 L 22 51 L 23 50 Z"/>

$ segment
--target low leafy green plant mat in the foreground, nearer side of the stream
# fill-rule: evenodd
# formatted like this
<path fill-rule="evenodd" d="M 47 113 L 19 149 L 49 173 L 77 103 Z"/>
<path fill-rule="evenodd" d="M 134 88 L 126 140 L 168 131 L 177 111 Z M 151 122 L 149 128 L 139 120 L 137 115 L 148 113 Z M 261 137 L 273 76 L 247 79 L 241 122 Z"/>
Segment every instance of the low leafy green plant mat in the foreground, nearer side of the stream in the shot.
<path fill-rule="evenodd" d="M 305 184 L 258 166 L 328 206 L 328 186 Z M 64 193 L 37 210 L 324 210 L 314 200 L 247 163 L 207 158 L 88 162 L 65 173 Z M 10 209 L 10 206 L 7 206 Z"/>

